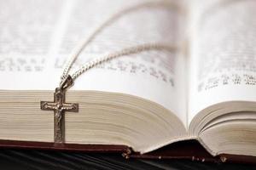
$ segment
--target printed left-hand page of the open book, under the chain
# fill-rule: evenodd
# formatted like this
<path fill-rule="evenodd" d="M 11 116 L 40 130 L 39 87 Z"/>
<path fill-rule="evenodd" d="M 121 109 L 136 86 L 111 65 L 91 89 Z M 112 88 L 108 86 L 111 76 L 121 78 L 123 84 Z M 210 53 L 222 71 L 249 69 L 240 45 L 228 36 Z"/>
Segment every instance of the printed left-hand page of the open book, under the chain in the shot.
<path fill-rule="evenodd" d="M 173 1 L 175 2 L 175 1 Z M 183 42 L 184 14 L 172 1 L 9 1 L 0 5 L 0 89 L 54 90 L 67 57 L 113 14 L 120 16 L 90 42 L 73 71 L 122 48 Z M 130 12 L 122 14 L 126 8 Z M 15 11 L 15 12 L 14 12 Z M 147 51 L 85 72 L 70 90 L 96 90 L 150 99 L 186 121 L 181 51 Z"/>

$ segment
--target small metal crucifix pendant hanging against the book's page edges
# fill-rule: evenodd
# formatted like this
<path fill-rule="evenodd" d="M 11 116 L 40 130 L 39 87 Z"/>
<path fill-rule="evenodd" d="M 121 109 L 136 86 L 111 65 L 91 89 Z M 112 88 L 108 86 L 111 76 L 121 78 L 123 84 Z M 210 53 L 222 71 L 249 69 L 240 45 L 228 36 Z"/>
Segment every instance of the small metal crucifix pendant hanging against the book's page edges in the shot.
<path fill-rule="evenodd" d="M 72 85 L 73 79 L 68 76 L 66 80 L 61 83 L 60 88 L 55 88 L 54 102 L 41 101 L 41 110 L 54 111 L 55 143 L 65 142 L 65 111 L 79 111 L 79 104 L 65 103 L 66 90 Z"/>

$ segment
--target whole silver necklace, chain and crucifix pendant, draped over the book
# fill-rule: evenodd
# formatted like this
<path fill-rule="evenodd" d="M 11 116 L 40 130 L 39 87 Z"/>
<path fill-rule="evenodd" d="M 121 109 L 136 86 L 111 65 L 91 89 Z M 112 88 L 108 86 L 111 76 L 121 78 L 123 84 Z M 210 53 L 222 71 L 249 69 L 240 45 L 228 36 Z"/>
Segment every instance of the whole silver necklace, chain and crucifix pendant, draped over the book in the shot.
<path fill-rule="evenodd" d="M 168 6 L 166 6 L 166 4 Z M 110 59 L 118 58 L 121 56 L 129 55 L 129 54 L 138 54 L 143 51 L 150 50 L 166 50 L 166 51 L 175 51 L 177 46 L 172 46 L 166 43 L 144 43 L 137 46 L 131 46 L 129 48 L 123 48 L 119 51 L 115 51 L 113 53 L 107 54 L 100 58 L 92 59 L 90 62 L 85 63 L 81 67 L 79 67 L 78 71 L 75 71 L 72 76 L 69 75 L 69 71 L 75 62 L 75 60 L 79 57 L 79 54 L 84 50 L 84 48 L 107 26 L 112 24 L 115 20 L 117 20 L 120 16 L 130 13 L 138 8 L 144 7 L 172 7 L 173 3 L 143 3 L 137 5 L 135 7 L 126 8 L 125 10 L 120 11 L 118 14 L 114 14 L 109 20 L 104 22 L 101 26 L 94 31 L 91 36 L 85 39 L 81 45 L 76 48 L 73 54 L 70 55 L 69 59 L 64 66 L 64 71 L 61 75 L 61 83 L 59 88 L 55 88 L 54 94 L 54 102 L 49 101 L 41 101 L 41 110 L 43 111 L 54 111 L 54 141 L 55 144 L 63 144 L 65 143 L 65 111 L 69 112 L 79 112 L 79 104 L 74 103 L 66 103 L 65 102 L 65 94 L 67 89 L 73 86 L 74 80 L 78 78 L 85 71 L 88 71 L 90 68 L 95 67 L 96 65 L 100 65 L 103 62 L 106 62 Z"/>

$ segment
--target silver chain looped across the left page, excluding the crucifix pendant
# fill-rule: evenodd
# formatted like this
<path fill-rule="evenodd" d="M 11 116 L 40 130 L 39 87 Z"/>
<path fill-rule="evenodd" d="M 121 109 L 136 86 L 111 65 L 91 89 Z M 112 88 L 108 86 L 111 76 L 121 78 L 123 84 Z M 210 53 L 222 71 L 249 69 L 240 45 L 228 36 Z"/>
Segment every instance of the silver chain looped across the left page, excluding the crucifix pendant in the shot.
<path fill-rule="evenodd" d="M 112 17 L 110 17 L 108 20 L 106 20 L 101 26 L 99 26 L 96 31 L 94 31 L 89 38 L 84 39 L 80 43 L 80 46 L 78 48 L 75 48 L 73 53 L 70 55 L 70 57 L 67 59 L 67 62 L 65 63 L 64 66 L 64 71 L 61 75 L 61 82 L 63 82 L 67 76 L 68 72 L 70 71 L 73 63 L 76 61 L 76 59 L 79 57 L 79 54 L 84 50 L 85 47 L 107 26 L 113 23 L 113 21 L 119 19 L 120 16 L 130 13 L 131 11 L 137 10 L 139 8 L 148 8 L 148 7 L 163 7 L 163 8 L 178 8 L 177 4 L 175 3 L 170 3 L 167 1 L 162 1 L 160 3 L 155 3 L 155 2 L 149 2 L 149 3 L 143 3 L 131 8 L 125 8 L 124 10 L 120 11 L 117 14 L 114 14 Z M 73 81 L 79 77 L 81 74 L 84 73 L 84 71 L 88 71 L 90 68 L 102 64 L 102 62 L 106 62 L 110 59 L 114 59 L 117 57 L 129 55 L 129 54 L 137 54 L 141 53 L 143 51 L 149 51 L 149 50 L 166 50 L 166 51 L 175 51 L 177 50 L 177 46 L 175 45 L 170 45 L 166 43 L 144 43 L 136 46 L 131 46 L 129 48 L 123 48 L 119 51 L 115 51 L 113 53 L 107 54 L 105 56 L 102 56 L 100 58 L 93 59 L 81 67 L 79 67 L 78 71 L 75 71 L 73 75 L 71 76 Z"/>

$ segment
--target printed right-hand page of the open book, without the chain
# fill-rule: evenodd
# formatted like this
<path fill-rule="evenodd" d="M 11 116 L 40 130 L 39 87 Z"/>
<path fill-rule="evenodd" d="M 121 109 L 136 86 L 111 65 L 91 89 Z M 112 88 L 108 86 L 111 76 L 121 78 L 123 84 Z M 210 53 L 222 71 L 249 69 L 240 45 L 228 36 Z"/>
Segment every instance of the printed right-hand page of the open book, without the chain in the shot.
<path fill-rule="evenodd" d="M 209 105 L 256 101 L 256 2 L 193 1 L 189 122 Z"/>

